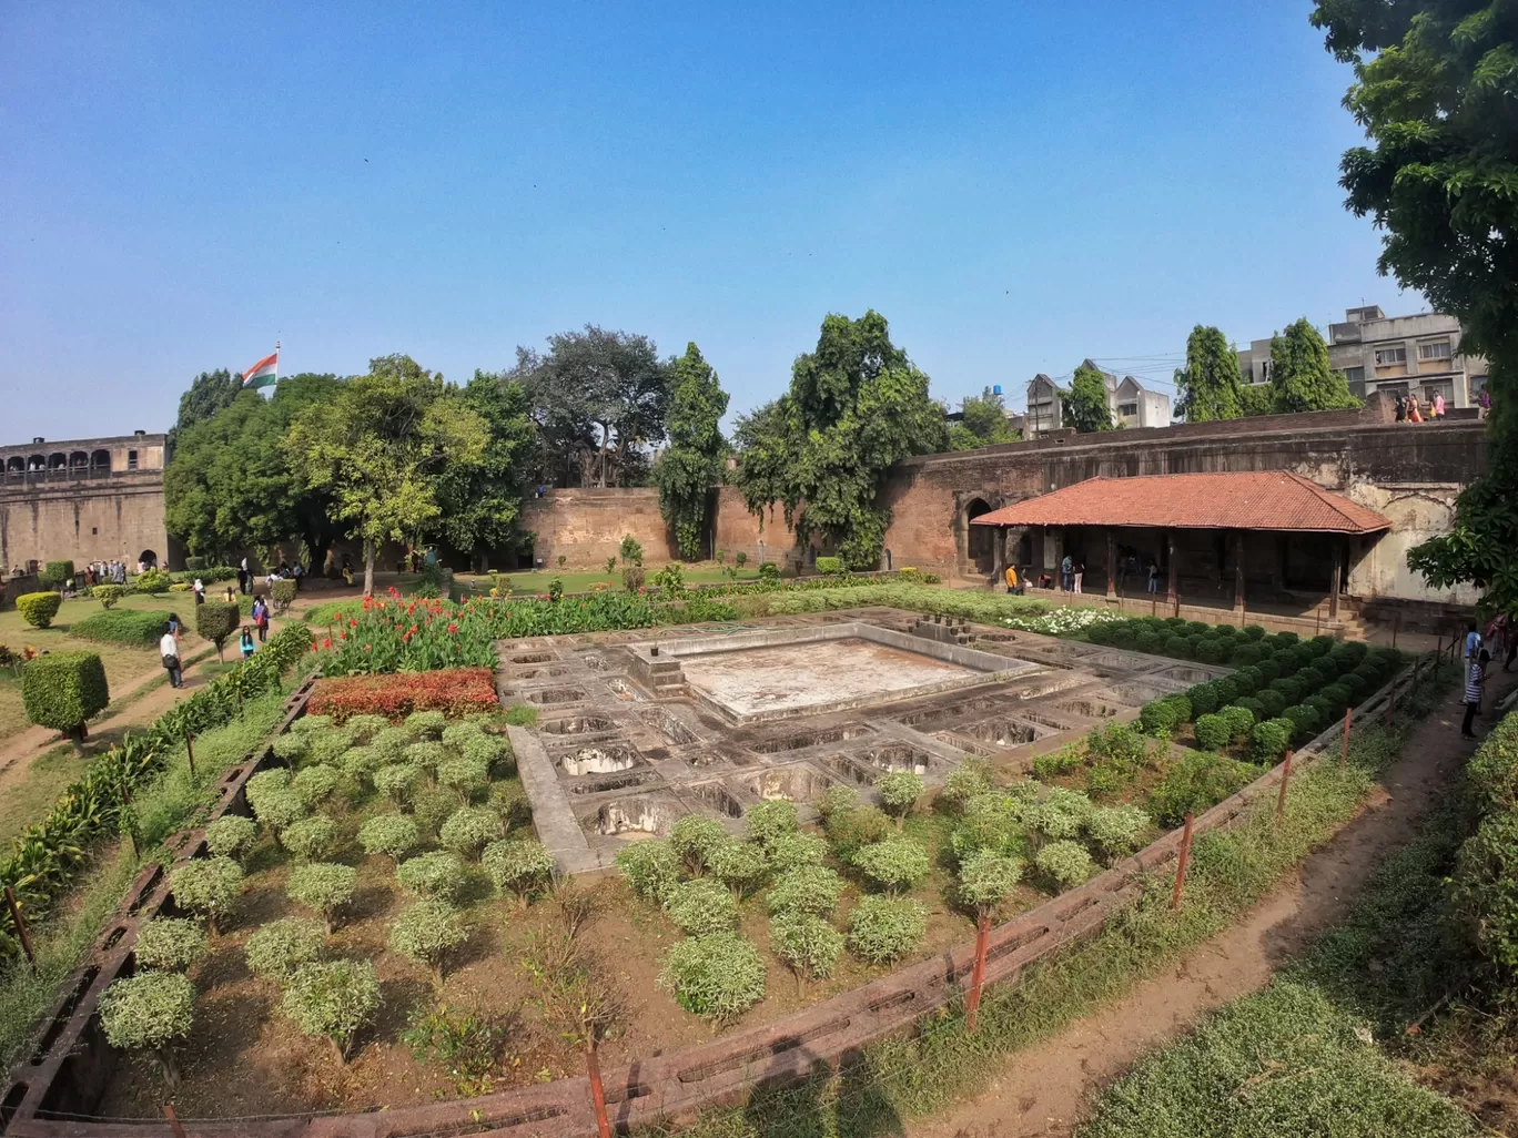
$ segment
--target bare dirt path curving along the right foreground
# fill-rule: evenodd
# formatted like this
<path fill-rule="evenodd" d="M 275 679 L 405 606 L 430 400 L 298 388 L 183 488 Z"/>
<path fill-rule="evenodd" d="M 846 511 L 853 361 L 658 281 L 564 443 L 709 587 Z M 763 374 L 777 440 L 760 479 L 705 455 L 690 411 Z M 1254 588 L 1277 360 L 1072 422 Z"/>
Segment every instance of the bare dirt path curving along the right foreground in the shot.
<path fill-rule="evenodd" d="M 1501 677 L 1492 693 L 1512 686 Z M 1239 923 L 1142 982 L 1126 998 L 1046 1044 L 1011 1056 L 976 1099 L 908 1126 L 912 1138 L 1053 1138 L 1067 1135 L 1094 1092 L 1145 1052 L 1190 1030 L 1198 1017 L 1263 988 L 1275 968 L 1340 921 L 1386 853 L 1410 842 L 1475 743 L 1460 739 L 1450 699 L 1409 736 L 1360 815 Z M 1494 722 L 1488 710 L 1488 725 Z"/>

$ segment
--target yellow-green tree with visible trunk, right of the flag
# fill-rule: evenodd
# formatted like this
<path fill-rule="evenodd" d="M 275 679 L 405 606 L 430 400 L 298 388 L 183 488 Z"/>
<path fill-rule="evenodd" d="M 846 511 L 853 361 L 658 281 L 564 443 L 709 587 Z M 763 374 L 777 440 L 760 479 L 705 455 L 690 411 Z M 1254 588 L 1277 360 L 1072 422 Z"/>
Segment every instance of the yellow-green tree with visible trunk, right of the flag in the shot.
<path fill-rule="evenodd" d="M 367 596 L 380 542 L 436 530 L 449 464 L 478 466 L 489 443 L 489 426 L 457 388 L 407 355 L 386 355 L 301 411 L 285 455 L 310 486 L 332 495 L 334 517 L 363 539 Z"/>

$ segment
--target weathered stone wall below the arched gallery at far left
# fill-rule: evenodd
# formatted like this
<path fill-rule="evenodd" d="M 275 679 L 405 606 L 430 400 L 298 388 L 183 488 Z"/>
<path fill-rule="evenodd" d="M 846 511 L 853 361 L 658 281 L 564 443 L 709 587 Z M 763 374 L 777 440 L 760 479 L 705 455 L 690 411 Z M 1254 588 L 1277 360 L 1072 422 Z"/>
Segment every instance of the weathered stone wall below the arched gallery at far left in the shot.
<path fill-rule="evenodd" d="M 118 558 L 178 564 L 164 527 L 164 472 L 0 479 L 0 564 Z"/>

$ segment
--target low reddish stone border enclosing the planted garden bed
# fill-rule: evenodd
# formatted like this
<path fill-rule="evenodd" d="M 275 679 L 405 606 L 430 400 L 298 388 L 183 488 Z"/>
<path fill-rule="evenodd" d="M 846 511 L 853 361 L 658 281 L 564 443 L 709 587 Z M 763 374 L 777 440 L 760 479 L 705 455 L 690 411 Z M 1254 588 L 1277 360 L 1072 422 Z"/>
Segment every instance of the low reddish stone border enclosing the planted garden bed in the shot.
<path fill-rule="evenodd" d="M 1354 724 L 1374 722 L 1401 687 L 1416 683 L 1421 660 L 1363 701 Z M 310 696 L 308 678 L 290 698 L 279 731 L 301 715 Z M 1353 727 L 1351 727 L 1353 730 Z M 513 734 L 513 740 L 516 736 Z M 1337 754 L 1342 727 L 1333 725 L 1296 751 L 1293 769 Z M 261 756 L 228 771 L 211 821 L 228 809 L 244 807 L 243 786 L 269 760 Z M 1275 766 L 1239 794 L 1224 800 L 1195 821 L 1196 833 L 1231 825 L 1254 801 L 1278 791 L 1284 765 Z M 182 863 L 203 850 L 202 830 L 187 830 L 172 844 Z M 1057 948 L 1101 929 L 1107 918 L 1131 904 L 1143 879 L 1163 871 L 1176 856 L 1181 831 L 1172 830 L 1132 857 L 1061 894 L 1037 909 L 997 926 L 990 935 L 987 983 L 1014 979 L 1022 970 Z M 29 1064 L 12 1073 L 14 1082 L 0 1100 L 0 1124 L 17 1138 L 159 1138 L 164 1123 L 91 1121 L 67 1106 L 99 1099 L 115 1068 L 115 1053 L 106 1045 L 96 1003 L 105 988 L 131 974 L 132 945 L 140 921 L 153 916 L 168 897 L 167 874 L 153 866 L 138 877 L 100 947 L 87 965 L 70 977 Z M 818 1065 L 836 1065 L 868 1044 L 909 1029 L 924 1012 L 958 997 L 970 976 L 973 944 L 962 944 L 927 960 L 842 992 L 779 1023 L 738 1030 L 709 1044 L 639 1059 L 603 1073 L 606 1102 L 615 1126 L 630 1130 L 671 1118 L 686 1118 L 701 1109 L 742 1102 L 757 1083 L 797 1079 Z M 509 1135 L 510 1138 L 591 1138 L 597 1133 L 589 1080 L 560 1079 L 542 1086 L 516 1088 L 424 1106 L 363 1114 L 294 1114 L 234 1120 L 190 1120 L 191 1138 L 419 1138 L 420 1135 Z"/>

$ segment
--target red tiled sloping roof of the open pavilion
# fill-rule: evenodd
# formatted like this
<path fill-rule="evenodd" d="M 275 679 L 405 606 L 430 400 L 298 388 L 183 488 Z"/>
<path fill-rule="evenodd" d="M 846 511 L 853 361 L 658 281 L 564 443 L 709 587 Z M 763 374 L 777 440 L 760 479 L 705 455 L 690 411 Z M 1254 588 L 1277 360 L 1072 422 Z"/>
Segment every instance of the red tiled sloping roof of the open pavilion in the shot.
<path fill-rule="evenodd" d="M 1392 527 L 1374 510 L 1286 470 L 1088 478 L 970 522 L 1336 534 L 1369 534 Z"/>

